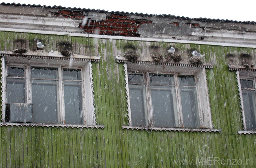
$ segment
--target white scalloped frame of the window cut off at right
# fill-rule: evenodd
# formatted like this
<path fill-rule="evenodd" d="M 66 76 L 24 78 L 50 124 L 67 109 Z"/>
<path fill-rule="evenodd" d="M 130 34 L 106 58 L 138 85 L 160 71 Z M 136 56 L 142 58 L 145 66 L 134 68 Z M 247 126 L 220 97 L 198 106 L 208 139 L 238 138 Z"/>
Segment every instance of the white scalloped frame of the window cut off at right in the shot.
<path fill-rule="evenodd" d="M 256 134 L 256 130 L 247 130 L 244 103 L 243 103 L 244 101 L 242 97 L 242 88 L 241 88 L 241 82 L 240 82 L 240 79 L 253 80 L 253 85 L 254 87 L 256 87 L 256 72 L 236 71 L 236 78 L 237 78 L 237 84 L 238 84 L 240 107 L 241 107 L 241 114 L 242 114 L 242 125 L 243 125 L 243 130 L 238 131 L 238 133 L 239 134 Z M 256 91 L 256 88 L 254 90 Z"/>

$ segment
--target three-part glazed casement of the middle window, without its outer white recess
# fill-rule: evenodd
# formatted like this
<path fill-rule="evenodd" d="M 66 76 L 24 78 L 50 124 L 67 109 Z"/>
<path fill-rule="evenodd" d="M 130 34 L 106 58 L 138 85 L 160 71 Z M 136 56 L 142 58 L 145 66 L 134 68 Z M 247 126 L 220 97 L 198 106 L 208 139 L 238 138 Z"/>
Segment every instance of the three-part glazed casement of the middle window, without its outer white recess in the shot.
<path fill-rule="evenodd" d="M 129 72 L 128 80 L 133 126 L 200 127 L 195 76 Z"/>

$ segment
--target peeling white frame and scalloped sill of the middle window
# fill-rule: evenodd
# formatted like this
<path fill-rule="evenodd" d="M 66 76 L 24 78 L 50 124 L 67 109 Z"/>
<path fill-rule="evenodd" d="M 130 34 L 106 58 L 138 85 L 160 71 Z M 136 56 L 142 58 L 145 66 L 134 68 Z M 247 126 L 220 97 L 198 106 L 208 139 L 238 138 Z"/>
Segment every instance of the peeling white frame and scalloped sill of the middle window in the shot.
<path fill-rule="evenodd" d="M 140 65 L 140 64 L 131 64 L 126 62 L 124 64 L 124 71 L 125 71 L 125 83 L 126 83 L 126 94 L 127 94 L 127 107 L 128 107 L 128 120 L 129 125 L 123 126 L 123 129 L 140 129 L 140 130 L 169 130 L 169 131 L 201 131 L 201 132 L 221 132 L 221 129 L 213 129 L 212 125 L 212 118 L 211 118 L 211 109 L 210 109 L 210 101 L 209 101 L 209 94 L 208 94 L 208 87 L 207 87 L 207 79 L 206 79 L 206 70 L 203 67 L 186 67 L 183 66 L 168 66 L 163 67 L 160 65 Z M 129 94 L 129 86 L 128 86 L 128 71 L 146 71 L 148 73 L 155 73 L 155 74 L 174 74 L 176 78 L 179 75 L 194 75 L 196 79 L 196 88 L 197 88 L 197 98 L 198 98 L 198 109 L 199 109 L 199 117 L 200 117 L 200 124 L 201 128 L 163 128 L 163 127 L 143 127 L 143 126 L 132 126 L 131 121 L 131 108 L 130 108 L 130 94 Z M 177 80 L 177 79 L 176 79 Z M 177 85 L 177 82 L 175 83 Z M 176 86 L 177 88 L 178 86 Z M 200 89 L 199 89 L 200 88 Z M 176 96 L 180 97 L 179 90 L 176 89 Z M 182 112 L 181 112 L 181 102 L 180 98 L 177 100 L 177 108 L 178 108 L 178 115 L 179 115 L 179 126 L 182 124 Z M 152 118 L 152 114 L 150 115 L 149 119 Z"/>

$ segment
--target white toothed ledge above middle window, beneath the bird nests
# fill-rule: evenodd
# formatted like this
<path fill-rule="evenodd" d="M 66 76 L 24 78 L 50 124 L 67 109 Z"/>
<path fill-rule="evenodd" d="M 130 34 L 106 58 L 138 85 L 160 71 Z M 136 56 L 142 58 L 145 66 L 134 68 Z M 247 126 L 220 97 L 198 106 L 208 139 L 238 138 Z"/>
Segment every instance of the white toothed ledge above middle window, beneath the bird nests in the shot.
<path fill-rule="evenodd" d="M 117 55 L 116 56 L 117 63 L 128 63 L 128 60 L 125 59 L 123 56 Z M 197 68 L 213 68 L 213 62 L 207 62 L 202 65 L 192 65 L 187 60 L 182 60 L 180 62 L 155 62 L 151 57 L 139 57 L 136 61 L 137 64 L 148 64 L 148 65 L 164 65 L 164 66 L 179 66 L 179 67 L 197 67 Z"/>

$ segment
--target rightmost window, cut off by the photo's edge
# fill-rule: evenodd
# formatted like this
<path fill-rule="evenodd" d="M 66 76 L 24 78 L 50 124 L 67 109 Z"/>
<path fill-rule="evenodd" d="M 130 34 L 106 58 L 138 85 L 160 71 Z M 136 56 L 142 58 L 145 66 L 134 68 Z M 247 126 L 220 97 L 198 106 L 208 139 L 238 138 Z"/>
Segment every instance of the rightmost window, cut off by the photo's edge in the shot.
<path fill-rule="evenodd" d="M 238 87 L 242 107 L 244 130 L 256 130 L 256 88 L 253 72 L 238 72 Z M 241 131 L 240 131 L 241 132 Z"/>

